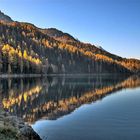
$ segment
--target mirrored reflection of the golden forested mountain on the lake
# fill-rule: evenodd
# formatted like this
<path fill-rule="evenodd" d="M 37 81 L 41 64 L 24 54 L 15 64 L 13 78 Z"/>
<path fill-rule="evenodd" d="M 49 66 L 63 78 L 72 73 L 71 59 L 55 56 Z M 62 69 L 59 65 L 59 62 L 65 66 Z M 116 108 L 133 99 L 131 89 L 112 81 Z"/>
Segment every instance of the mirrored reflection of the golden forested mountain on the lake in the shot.
<path fill-rule="evenodd" d="M 114 76 L 2 79 L 3 107 L 27 122 L 57 119 L 85 103 L 123 88 L 140 86 L 140 78 Z"/>

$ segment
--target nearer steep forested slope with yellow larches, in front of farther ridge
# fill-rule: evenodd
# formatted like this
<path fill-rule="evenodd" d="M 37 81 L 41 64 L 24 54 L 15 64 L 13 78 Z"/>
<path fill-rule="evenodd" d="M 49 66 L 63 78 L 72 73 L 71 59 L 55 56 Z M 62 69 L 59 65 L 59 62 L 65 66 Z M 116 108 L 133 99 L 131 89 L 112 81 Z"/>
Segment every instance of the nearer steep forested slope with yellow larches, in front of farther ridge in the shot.
<path fill-rule="evenodd" d="M 0 23 L 2 73 L 129 73 L 112 58 L 63 43 L 27 23 Z M 5 44 L 13 48 L 5 52 Z M 93 48 L 93 51 L 95 49 Z M 6 55 L 5 55 L 6 54 Z M 20 57 L 21 55 L 21 57 Z M 33 62 L 35 59 L 39 62 Z"/>

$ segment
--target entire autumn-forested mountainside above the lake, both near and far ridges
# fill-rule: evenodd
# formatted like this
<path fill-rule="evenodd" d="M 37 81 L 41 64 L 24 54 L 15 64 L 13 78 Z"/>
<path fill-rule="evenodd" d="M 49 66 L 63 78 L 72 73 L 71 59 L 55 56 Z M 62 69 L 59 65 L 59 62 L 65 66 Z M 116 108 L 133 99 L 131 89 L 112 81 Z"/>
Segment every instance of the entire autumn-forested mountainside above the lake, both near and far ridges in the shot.
<path fill-rule="evenodd" d="M 55 28 L 0 20 L 0 72 L 131 74 L 140 72 L 140 60 L 111 54 Z"/>

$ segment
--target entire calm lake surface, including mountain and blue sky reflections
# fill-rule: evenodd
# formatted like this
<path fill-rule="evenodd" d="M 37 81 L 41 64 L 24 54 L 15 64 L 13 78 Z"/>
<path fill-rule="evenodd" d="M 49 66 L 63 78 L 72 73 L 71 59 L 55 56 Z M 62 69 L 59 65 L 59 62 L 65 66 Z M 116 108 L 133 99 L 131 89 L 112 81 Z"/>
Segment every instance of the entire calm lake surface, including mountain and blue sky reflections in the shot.
<path fill-rule="evenodd" d="M 0 79 L 3 108 L 43 140 L 139 140 L 140 77 Z"/>

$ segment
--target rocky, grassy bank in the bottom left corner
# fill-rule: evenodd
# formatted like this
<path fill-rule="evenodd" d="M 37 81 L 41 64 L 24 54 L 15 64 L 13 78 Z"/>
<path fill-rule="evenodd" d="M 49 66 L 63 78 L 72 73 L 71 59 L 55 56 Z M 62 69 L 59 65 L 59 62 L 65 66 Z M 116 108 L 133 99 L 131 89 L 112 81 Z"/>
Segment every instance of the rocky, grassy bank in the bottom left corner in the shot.
<path fill-rule="evenodd" d="M 41 140 L 33 128 L 0 108 L 0 140 Z"/>

